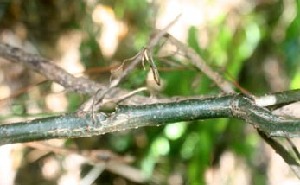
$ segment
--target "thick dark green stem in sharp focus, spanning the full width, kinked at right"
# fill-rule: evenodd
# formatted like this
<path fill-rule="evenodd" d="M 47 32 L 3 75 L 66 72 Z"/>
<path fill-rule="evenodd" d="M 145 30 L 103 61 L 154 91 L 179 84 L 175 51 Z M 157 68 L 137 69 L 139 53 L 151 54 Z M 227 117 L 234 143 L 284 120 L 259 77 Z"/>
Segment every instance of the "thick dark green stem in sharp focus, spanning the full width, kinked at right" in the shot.
<path fill-rule="evenodd" d="M 69 113 L 57 117 L 0 125 L 0 144 L 51 138 L 91 137 L 108 132 L 180 121 L 238 118 L 268 136 L 300 136 L 300 119 L 285 119 L 242 94 L 186 99 L 150 105 L 119 105 L 115 112 Z"/>

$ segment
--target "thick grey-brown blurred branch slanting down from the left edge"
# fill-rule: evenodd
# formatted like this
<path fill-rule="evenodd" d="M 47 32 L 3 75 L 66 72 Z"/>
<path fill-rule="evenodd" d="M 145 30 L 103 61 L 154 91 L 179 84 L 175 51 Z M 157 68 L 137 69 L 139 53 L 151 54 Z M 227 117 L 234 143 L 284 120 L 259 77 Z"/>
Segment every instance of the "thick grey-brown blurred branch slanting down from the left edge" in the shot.
<path fill-rule="evenodd" d="M 103 84 L 83 77 L 73 76 L 46 58 L 43 58 L 37 54 L 26 53 L 20 48 L 15 48 L 5 43 L 0 43 L 0 57 L 11 62 L 17 62 L 25 65 L 29 69 L 32 69 L 35 72 L 45 76 L 48 80 L 52 80 L 62 85 L 69 91 L 93 95 L 99 89 L 101 91 L 107 89 L 107 86 Z M 107 98 L 112 98 L 127 93 L 128 91 L 126 90 L 114 88 L 114 90 L 107 93 L 106 96 Z M 135 95 L 131 97 L 130 101 L 151 102 L 151 99 Z"/>

